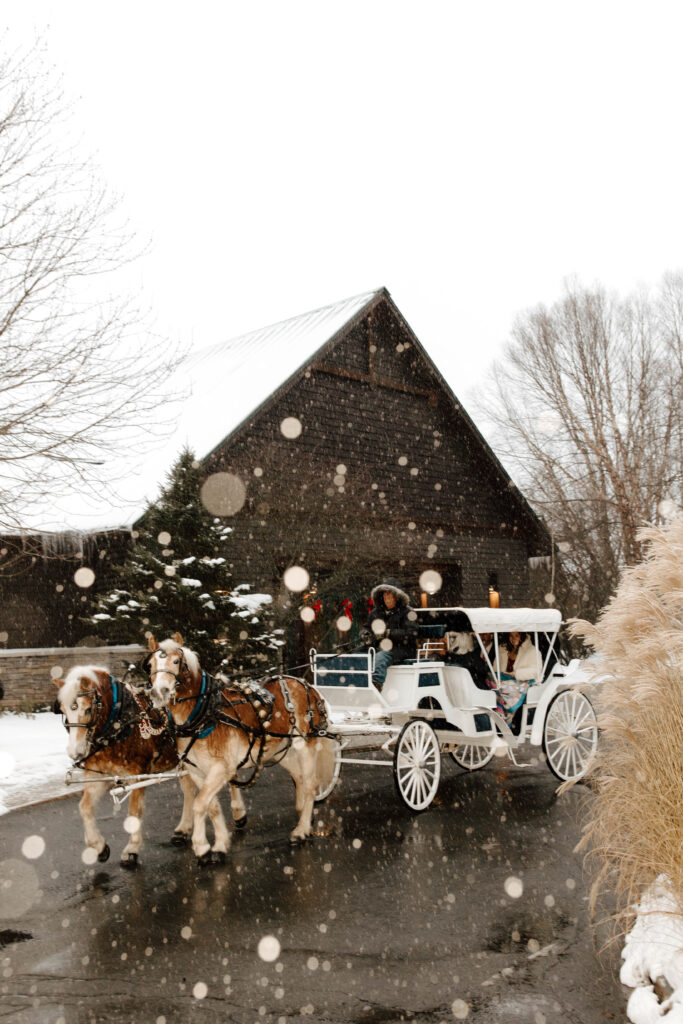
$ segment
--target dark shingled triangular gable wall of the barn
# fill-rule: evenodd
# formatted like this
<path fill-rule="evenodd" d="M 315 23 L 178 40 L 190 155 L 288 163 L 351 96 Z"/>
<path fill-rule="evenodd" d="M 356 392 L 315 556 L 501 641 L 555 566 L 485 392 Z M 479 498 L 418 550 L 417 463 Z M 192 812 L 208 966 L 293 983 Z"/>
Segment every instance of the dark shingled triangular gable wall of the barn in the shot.
<path fill-rule="evenodd" d="M 286 420 L 300 423 L 297 437 L 283 434 Z M 550 549 L 386 290 L 366 297 L 204 468 L 246 482 L 236 574 L 275 592 L 293 563 L 322 587 L 334 579 L 336 605 L 344 574 L 360 586 L 364 566 L 369 579 L 403 575 L 414 596 L 433 568 L 443 600 L 481 604 L 494 584 L 519 604 L 528 557 Z"/>

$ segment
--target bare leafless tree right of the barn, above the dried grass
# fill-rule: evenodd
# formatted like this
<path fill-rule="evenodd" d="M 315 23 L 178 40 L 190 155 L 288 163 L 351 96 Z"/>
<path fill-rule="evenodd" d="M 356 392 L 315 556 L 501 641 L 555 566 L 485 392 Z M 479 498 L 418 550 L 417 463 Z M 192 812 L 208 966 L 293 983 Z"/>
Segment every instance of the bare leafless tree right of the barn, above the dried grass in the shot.
<path fill-rule="evenodd" d="M 517 319 L 494 377 L 494 443 L 560 544 L 567 608 L 595 616 L 683 500 L 683 275 L 623 300 L 567 286 Z"/>

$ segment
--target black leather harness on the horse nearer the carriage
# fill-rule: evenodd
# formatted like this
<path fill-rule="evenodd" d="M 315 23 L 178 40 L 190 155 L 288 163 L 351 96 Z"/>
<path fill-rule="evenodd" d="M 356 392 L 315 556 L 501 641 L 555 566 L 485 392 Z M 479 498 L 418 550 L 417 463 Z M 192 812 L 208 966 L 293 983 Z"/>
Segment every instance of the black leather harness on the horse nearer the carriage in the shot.
<path fill-rule="evenodd" d="M 266 681 L 266 680 L 264 680 Z M 285 705 L 285 711 L 289 718 L 289 729 L 287 732 L 276 732 L 270 727 L 273 714 L 275 712 L 275 697 L 265 689 L 261 682 L 256 680 L 244 680 L 226 684 L 224 680 L 210 676 L 207 672 L 202 672 L 202 684 L 199 694 L 187 697 L 175 697 L 176 703 L 185 700 L 195 700 L 195 707 L 188 718 L 181 724 L 175 724 L 175 734 L 179 738 L 189 737 L 189 744 L 180 756 L 181 762 L 188 761 L 188 755 L 198 739 L 204 739 L 216 728 L 218 724 L 228 725 L 240 729 L 248 739 L 248 750 L 244 758 L 236 769 L 234 778 L 230 779 L 230 785 L 239 788 L 248 788 L 253 785 L 261 773 L 263 767 L 279 764 L 287 755 L 296 736 L 300 736 L 307 741 L 316 736 L 327 735 L 328 718 L 323 701 L 319 699 L 309 683 L 303 679 L 297 679 L 306 694 L 307 709 L 305 718 L 308 722 L 309 731 L 304 735 L 299 729 L 296 721 L 296 711 L 292 699 L 291 690 L 287 681 L 278 676 L 276 681 Z M 251 725 L 241 717 L 241 711 L 249 708 L 254 713 L 254 724 Z M 318 724 L 315 724 L 315 713 L 317 713 Z M 167 712 L 169 721 L 173 722 L 170 711 Z M 268 739 L 284 739 L 286 744 L 278 752 L 274 759 L 263 764 L 265 744 Z M 251 761 L 252 771 L 247 779 L 239 779 L 237 772 L 244 768 Z M 191 761 L 188 762 L 193 764 Z"/>

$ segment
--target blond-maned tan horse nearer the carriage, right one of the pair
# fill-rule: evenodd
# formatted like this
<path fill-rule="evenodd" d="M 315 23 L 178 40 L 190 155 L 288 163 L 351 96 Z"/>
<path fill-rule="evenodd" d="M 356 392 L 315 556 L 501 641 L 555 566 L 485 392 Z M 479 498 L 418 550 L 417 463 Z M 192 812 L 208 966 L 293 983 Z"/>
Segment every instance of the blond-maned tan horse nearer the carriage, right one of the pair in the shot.
<path fill-rule="evenodd" d="M 200 862 L 208 862 L 211 850 L 215 859 L 225 858 L 230 837 L 214 821 L 210 847 L 206 815 L 223 786 L 246 784 L 238 780 L 240 768 L 251 769 L 249 784 L 268 763 L 289 771 L 299 812 L 290 841 L 308 839 L 316 790 L 332 778 L 335 768 L 335 745 L 326 735 L 327 711 L 317 690 L 292 676 L 233 685 L 216 680 L 202 671 L 179 633 L 161 644 L 150 637 L 148 647 L 152 701 L 170 710 L 178 751 L 199 788 L 193 849 Z M 237 816 L 234 806 L 232 814 Z"/>

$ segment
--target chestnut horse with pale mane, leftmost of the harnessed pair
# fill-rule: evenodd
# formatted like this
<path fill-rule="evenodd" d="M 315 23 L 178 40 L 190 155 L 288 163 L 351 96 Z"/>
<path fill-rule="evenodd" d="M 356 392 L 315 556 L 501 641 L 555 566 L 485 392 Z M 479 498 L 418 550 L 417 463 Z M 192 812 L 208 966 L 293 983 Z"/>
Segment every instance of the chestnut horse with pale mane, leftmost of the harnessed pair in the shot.
<path fill-rule="evenodd" d="M 95 821 L 95 808 L 111 781 L 102 776 L 156 774 L 177 767 L 175 739 L 166 715 L 156 711 L 146 697 L 98 666 L 77 666 L 66 679 L 56 679 L 58 688 L 54 712 L 63 716 L 69 732 L 67 748 L 76 766 L 86 772 L 86 784 L 79 804 L 85 843 L 109 859 L 110 848 Z M 179 778 L 183 793 L 182 818 L 176 835 L 186 834 L 191 822 L 195 784 L 189 776 Z M 141 819 L 144 788 L 133 790 L 130 819 L 135 824 L 121 855 L 124 867 L 135 867 L 142 844 Z M 220 813 L 220 809 L 218 809 Z"/>

